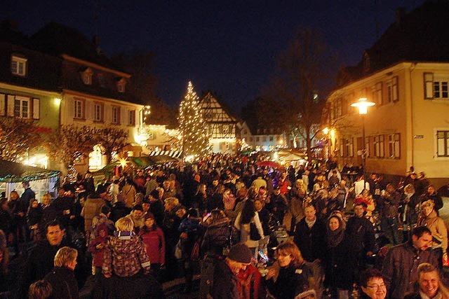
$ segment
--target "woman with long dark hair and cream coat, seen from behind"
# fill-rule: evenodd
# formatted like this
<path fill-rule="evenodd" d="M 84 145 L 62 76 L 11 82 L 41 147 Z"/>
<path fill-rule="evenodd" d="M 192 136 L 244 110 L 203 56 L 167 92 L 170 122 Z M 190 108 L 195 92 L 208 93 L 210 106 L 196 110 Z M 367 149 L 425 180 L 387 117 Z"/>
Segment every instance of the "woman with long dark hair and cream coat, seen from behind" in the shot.
<path fill-rule="evenodd" d="M 259 214 L 255 210 L 255 205 L 253 200 L 247 200 L 243 209 L 237 215 L 234 226 L 237 230 L 240 230 L 240 242 L 246 244 L 249 249 L 255 252 L 255 249 L 259 247 L 259 240 L 251 239 L 250 237 L 250 223 L 254 223 L 257 232 L 260 235 L 260 239 L 264 238 L 264 230 L 262 228 L 262 223 L 260 223 Z"/>

